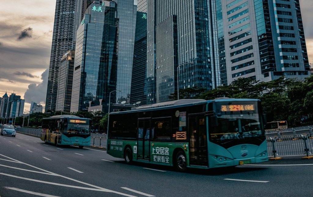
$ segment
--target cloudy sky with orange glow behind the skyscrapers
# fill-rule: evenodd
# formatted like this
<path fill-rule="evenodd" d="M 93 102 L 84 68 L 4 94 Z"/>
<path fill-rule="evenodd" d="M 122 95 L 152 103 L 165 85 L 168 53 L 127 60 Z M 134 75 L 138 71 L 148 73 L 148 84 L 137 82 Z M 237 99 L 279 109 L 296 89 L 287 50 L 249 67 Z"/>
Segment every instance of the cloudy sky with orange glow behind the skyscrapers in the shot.
<path fill-rule="evenodd" d="M 46 100 L 55 0 L 1 0 L 0 97 L 16 93 L 25 110 Z M 136 4 L 136 0 L 135 0 Z M 313 0 L 300 0 L 309 62 L 313 63 Z"/>

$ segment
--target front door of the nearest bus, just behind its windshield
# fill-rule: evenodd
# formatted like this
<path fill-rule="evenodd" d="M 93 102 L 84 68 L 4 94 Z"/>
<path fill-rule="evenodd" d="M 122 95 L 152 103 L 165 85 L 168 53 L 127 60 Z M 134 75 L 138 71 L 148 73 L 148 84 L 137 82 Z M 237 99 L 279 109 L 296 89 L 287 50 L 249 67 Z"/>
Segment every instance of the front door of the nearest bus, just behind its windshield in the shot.
<path fill-rule="evenodd" d="M 208 142 L 204 113 L 188 115 L 190 165 L 208 166 Z"/>

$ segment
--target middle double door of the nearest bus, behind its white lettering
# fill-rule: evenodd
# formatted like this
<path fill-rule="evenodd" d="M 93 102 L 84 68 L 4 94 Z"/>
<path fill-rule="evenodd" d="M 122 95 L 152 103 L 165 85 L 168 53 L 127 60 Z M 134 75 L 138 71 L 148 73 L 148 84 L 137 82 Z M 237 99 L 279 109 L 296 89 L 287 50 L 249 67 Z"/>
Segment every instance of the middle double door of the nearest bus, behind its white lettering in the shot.
<path fill-rule="evenodd" d="M 137 159 L 150 160 L 150 119 L 138 119 Z"/>

